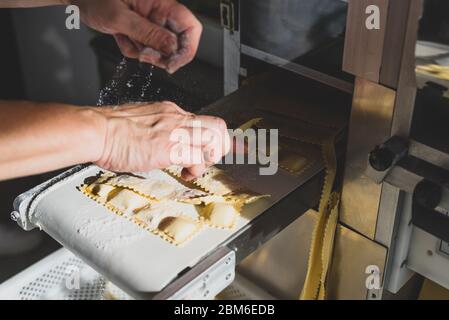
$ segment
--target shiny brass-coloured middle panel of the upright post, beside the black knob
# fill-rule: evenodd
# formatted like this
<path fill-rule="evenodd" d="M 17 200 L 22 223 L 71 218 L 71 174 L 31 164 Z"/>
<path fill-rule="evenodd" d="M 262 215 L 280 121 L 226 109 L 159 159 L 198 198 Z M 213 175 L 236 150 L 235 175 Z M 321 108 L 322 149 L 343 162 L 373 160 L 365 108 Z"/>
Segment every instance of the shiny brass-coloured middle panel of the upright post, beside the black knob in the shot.
<path fill-rule="evenodd" d="M 395 91 L 357 78 L 341 199 L 341 221 L 374 239 L 381 185 L 365 176 L 368 154 L 390 137 Z"/>

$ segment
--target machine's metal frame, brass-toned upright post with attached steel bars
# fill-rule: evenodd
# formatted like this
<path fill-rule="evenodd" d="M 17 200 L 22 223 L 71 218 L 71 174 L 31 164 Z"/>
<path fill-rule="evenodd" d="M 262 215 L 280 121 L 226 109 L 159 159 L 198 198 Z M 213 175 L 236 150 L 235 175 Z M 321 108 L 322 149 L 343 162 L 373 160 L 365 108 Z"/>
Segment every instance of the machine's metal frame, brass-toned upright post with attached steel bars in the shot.
<path fill-rule="evenodd" d="M 372 175 L 368 165 L 370 152 L 397 136 L 406 141 L 409 148 L 403 150 L 396 161 L 413 156 L 447 169 L 447 154 L 409 138 L 417 92 L 415 46 L 423 1 L 347 2 L 343 70 L 356 77 L 354 86 L 241 44 L 239 1 L 223 0 L 222 7 L 226 10 L 222 11 L 222 21 L 233 21 L 233 24 L 224 24 L 225 92 L 238 89 L 239 78 L 246 76 L 246 70 L 241 66 L 242 55 L 342 91 L 353 90 L 340 213 L 340 228 L 345 231 L 337 232 L 336 236 L 334 262 L 328 280 L 329 298 L 381 299 L 390 294 L 401 294 L 413 286 L 410 283 L 419 282 L 414 271 L 448 287 L 449 275 L 430 267 L 438 260 L 436 265 L 447 270 L 447 244 L 410 224 L 412 198 L 406 191 L 413 186 L 410 181 L 413 181 L 411 177 L 416 180 L 416 174 L 404 172 L 401 166 L 394 167 L 394 162 L 391 164 L 394 169 L 388 175 L 384 172 L 384 178 L 379 180 L 378 176 Z M 365 27 L 368 5 L 377 5 L 380 9 L 379 30 Z M 425 241 L 426 250 L 423 250 Z M 364 273 L 364 267 L 373 261 L 379 267 L 382 285 L 367 289 L 368 275 Z M 401 296 L 407 295 L 410 293 Z"/>

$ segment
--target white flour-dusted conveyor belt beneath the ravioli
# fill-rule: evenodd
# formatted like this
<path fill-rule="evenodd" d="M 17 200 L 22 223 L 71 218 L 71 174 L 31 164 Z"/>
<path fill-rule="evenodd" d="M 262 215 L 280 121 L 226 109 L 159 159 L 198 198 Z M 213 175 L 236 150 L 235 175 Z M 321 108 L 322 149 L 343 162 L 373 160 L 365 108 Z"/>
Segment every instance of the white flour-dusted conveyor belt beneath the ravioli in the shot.
<path fill-rule="evenodd" d="M 115 215 L 77 190 L 87 177 L 101 171 L 97 166 L 73 168 L 20 195 L 13 218 L 24 229 L 39 227 L 126 292 L 156 293 L 321 168 L 317 163 L 297 177 L 284 171 L 260 176 L 255 166 L 228 166 L 225 170 L 238 183 L 271 197 L 245 206 L 234 229 L 204 228 L 182 247 Z"/>

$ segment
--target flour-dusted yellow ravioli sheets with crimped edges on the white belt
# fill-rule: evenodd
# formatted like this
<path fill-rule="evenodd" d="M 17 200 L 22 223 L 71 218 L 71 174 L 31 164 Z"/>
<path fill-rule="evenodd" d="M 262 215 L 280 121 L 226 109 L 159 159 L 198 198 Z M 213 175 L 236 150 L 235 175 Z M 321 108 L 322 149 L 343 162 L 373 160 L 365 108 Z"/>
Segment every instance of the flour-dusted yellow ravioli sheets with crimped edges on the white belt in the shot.
<path fill-rule="evenodd" d="M 172 168 L 172 175 L 180 169 Z M 180 171 L 179 171 L 180 173 Z M 193 183 L 180 175 L 155 170 L 142 177 L 100 173 L 86 179 L 80 191 L 115 214 L 175 244 L 182 245 L 202 228 L 232 229 L 245 204 L 261 195 L 243 189 L 217 168 Z"/>

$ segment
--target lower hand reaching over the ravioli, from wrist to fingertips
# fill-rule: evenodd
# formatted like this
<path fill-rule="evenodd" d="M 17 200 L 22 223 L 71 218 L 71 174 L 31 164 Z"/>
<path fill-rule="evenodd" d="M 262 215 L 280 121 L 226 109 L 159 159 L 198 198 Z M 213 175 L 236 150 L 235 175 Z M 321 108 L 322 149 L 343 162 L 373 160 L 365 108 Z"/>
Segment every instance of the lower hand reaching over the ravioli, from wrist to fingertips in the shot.
<path fill-rule="evenodd" d="M 104 148 L 95 163 L 105 169 L 142 172 L 176 164 L 189 180 L 230 149 L 222 119 L 188 113 L 172 102 L 97 110 L 106 121 Z"/>

